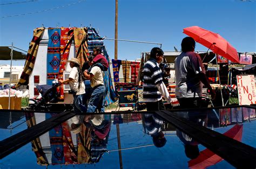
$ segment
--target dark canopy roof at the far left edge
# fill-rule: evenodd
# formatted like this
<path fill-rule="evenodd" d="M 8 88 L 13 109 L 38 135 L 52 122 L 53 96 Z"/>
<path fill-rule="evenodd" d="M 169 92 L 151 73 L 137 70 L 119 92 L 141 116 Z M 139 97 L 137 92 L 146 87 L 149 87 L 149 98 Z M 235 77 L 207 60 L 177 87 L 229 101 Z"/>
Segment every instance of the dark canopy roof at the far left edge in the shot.
<path fill-rule="evenodd" d="M 13 47 L 12 46 L 0 46 L 0 60 L 11 60 L 11 48 L 13 49 L 12 60 L 25 60 L 26 59 L 26 54 L 23 53 L 26 51 L 16 48 L 15 46 L 13 46 Z"/>

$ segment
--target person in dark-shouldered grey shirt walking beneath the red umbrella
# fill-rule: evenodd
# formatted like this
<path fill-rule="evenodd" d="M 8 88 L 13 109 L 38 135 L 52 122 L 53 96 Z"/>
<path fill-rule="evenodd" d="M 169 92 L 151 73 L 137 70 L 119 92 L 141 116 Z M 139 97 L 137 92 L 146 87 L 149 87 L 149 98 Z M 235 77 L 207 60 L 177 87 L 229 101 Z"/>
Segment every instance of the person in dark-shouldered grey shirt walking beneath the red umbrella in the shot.
<path fill-rule="evenodd" d="M 181 42 L 182 52 L 175 60 L 175 95 L 183 109 L 201 107 L 203 85 L 210 90 L 212 99 L 215 98 L 203 62 L 198 53 L 194 52 L 195 46 L 193 38 L 185 37 Z"/>

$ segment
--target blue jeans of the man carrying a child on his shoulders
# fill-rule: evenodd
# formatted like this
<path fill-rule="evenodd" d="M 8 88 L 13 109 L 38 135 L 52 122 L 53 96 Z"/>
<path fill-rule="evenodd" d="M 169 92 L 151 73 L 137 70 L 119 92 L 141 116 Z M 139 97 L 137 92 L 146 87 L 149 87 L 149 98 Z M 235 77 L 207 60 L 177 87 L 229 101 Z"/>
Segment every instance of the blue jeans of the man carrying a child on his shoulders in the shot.
<path fill-rule="evenodd" d="M 105 95 L 105 86 L 98 86 L 96 89 L 93 89 L 91 98 L 88 103 L 87 113 L 94 113 L 97 110 L 99 112 L 105 112 L 104 110 L 104 95 Z"/>

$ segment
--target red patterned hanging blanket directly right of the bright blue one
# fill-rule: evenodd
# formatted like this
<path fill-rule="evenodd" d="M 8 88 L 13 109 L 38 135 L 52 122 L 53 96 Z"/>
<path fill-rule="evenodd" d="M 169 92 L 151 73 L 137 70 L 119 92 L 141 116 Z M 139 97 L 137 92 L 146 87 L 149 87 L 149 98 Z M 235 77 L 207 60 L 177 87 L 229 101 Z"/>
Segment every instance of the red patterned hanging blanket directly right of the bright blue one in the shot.
<path fill-rule="evenodd" d="M 69 28 L 60 28 L 60 64 L 59 64 L 59 80 L 63 80 L 63 72 L 66 67 L 66 61 L 69 58 L 69 51 L 71 46 L 71 38 L 73 36 L 73 29 Z M 65 51 L 64 51 L 65 50 Z M 59 86 L 59 100 L 64 100 L 64 86 L 61 84 Z"/>

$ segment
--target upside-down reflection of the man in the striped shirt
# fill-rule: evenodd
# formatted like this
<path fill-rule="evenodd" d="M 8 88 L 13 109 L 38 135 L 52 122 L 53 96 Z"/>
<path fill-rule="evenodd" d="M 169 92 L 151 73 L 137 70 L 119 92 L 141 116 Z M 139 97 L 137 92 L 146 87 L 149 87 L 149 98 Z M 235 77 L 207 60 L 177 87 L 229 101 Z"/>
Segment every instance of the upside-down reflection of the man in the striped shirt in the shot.
<path fill-rule="evenodd" d="M 162 124 L 163 120 L 157 114 L 144 114 L 144 126 L 156 147 L 163 147 L 166 144 L 164 133 L 161 131 Z"/>

